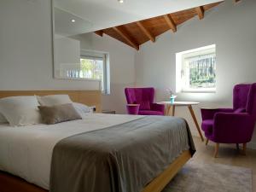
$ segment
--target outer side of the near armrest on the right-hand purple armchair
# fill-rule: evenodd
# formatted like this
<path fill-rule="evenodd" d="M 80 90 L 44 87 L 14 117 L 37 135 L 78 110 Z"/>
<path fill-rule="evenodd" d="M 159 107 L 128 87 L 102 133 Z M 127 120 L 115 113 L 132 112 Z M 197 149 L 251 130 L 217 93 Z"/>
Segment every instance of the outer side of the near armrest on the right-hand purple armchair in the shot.
<path fill-rule="evenodd" d="M 255 120 L 249 113 L 216 113 L 212 134 L 219 143 L 247 143 L 253 135 Z"/>

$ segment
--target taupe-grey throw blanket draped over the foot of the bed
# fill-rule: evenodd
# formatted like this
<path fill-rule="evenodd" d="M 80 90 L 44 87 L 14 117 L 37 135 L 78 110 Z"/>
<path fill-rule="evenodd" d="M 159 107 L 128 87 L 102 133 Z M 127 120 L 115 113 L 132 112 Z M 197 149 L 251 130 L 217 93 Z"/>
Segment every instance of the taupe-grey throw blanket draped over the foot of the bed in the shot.
<path fill-rule="evenodd" d="M 184 150 L 184 119 L 147 116 L 67 137 L 55 145 L 50 192 L 140 192 Z"/>

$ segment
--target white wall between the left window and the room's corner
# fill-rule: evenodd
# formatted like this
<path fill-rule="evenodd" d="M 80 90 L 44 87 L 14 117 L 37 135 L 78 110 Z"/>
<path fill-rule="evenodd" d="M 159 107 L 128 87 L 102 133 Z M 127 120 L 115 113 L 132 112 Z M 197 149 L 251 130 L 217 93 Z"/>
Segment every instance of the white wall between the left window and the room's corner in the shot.
<path fill-rule="evenodd" d="M 124 89 L 135 84 L 136 51 L 107 35 L 100 37 L 95 33 L 87 33 L 73 38 L 80 40 L 81 49 L 109 53 L 111 94 L 102 96 L 102 108 L 126 113 Z"/>

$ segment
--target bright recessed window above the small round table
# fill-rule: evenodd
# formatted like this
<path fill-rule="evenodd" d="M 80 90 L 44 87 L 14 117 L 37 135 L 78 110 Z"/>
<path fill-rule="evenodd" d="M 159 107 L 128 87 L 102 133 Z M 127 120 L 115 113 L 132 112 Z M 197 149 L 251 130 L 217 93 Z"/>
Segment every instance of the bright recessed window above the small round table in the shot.
<path fill-rule="evenodd" d="M 215 44 L 176 54 L 177 92 L 216 90 Z"/>

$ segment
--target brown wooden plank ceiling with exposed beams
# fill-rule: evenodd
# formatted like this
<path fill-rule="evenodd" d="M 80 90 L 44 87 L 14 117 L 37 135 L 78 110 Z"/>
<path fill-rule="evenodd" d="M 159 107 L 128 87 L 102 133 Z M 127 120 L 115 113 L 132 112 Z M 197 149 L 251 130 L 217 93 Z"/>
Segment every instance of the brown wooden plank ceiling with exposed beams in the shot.
<path fill-rule="evenodd" d="M 239 0 L 234 1 L 238 2 Z M 219 3 L 222 2 L 211 3 L 193 9 L 186 9 L 168 15 L 161 15 L 147 20 L 139 20 L 122 26 L 114 26 L 96 31 L 95 33 L 100 36 L 107 34 L 138 50 L 141 44 L 144 44 L 149 40 L 154 42 L 155 37 L 163 32 L 168 30 L 177 32 L 177 26 L 195 16 L 198 16 L 199 19 L 202 20 L 205 12 L 216 7 Z"/>

